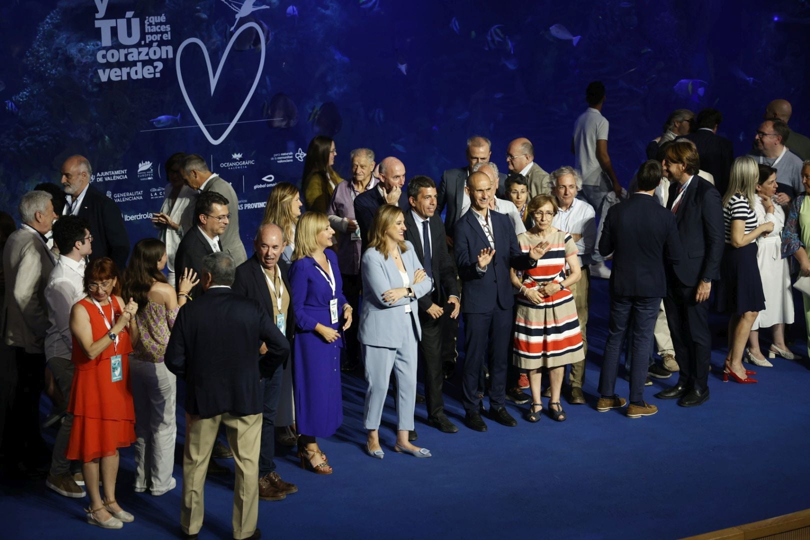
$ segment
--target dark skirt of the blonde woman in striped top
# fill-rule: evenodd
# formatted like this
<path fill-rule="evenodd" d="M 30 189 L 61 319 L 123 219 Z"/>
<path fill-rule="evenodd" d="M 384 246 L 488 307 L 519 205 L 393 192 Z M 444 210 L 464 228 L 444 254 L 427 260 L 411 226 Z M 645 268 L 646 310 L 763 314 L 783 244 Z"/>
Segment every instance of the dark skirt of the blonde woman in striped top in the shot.
<path fill-rule="evenodd" d="M 720 265 L 717 307 L 718 311 L 737 315 L 765 309 L 756 243 L 742 248 L 726 244 Z"/>

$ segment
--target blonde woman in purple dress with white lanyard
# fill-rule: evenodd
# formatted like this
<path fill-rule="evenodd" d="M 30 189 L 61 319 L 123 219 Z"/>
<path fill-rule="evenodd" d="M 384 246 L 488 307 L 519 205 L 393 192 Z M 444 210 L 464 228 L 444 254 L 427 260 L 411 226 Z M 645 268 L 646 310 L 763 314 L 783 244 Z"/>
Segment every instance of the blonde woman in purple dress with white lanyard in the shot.
<path fill-rule="evenodd" d="M 332 245 L 335 231 L 320 212 L 307 212 L 296 227 L 290 286 L 296 315 L 292 354 L 296 396 L 296 423 L 301 437 L 301 468 L 331 474 L 326 454 L 316 437 L 335 434 L 343 423 L 340 391 L 339 329 L 352 325 L 352 306 L 343 296 L 343 281 Z M 342 317 L 341 317 L 342 314 Z M 340 324 L 340 319 L 343 324 Z"/>

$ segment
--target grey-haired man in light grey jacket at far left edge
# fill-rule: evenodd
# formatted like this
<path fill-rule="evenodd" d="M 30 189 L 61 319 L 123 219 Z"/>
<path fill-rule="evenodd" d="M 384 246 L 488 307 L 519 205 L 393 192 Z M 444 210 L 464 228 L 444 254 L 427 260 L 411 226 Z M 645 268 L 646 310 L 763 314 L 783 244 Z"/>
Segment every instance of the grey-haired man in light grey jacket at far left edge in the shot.
<path fill-rule="evenodd" d="M 45 385 L 45 333 L 49 327 L 45 287 L 55 264 L 45 240 L 57 217 L 51 199 L 45 191 L 23 195 L 19 202 L 23 225 L 6 240 L 2 257 L 6 276 L 3 338 L 15 348 L 15 365 L 8 371 L 16 371 L 16 377 L 2 377 L 3 384 L 15 388 L 15 398 L 11 410 L 0 405 L 0 415 L 6 418 L 0 439 L 6 435 L 2 441 L 6 465 L 22 463 L 23 469 L 48 459 L 39 431 L 39 400 Z"/>

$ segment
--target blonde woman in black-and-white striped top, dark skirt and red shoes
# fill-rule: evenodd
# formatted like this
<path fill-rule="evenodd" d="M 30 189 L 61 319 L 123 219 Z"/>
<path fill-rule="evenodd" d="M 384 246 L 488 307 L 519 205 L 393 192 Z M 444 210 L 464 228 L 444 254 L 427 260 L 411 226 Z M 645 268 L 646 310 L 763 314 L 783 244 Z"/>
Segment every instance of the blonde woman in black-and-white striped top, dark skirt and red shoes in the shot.
<path fill-rule="evenodd" d="M 718 308 L 731 313 L 728 321 L 728 355 L 723 382 L 729 377 L 740 383 L 757 382 L 743 367 L 743 351 L 757 313 L 765 309 L 765 294 L 757 267 L 755 240 L 774 230 L 773 222 L 757 225 L 754 199 L 757 197 L 759 168 L 754 159 L 743 156 L 734 160 L 728 190 L 723 196 L 723 222 L 726 224 L 726 249 L 718 287 Z"/>

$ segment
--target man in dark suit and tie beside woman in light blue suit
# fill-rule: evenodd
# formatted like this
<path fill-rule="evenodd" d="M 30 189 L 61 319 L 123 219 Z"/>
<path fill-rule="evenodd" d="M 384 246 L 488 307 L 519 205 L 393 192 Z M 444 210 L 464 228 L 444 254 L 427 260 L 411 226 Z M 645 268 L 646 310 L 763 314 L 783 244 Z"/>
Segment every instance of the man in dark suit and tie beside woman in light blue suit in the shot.
<path fill-rule="evenodd" d="M 408 182 L 407 193 L 411 209 L 405 210 L 405 240 L 413 244 L 428 278 L 433 279 L 433 291 L 418 300 L 422 327 L 419 349 L 424 359 L 428 425 L 441 432 L 455 433 L 458 427 L 447 418 L 441 395 L 445 381 L 441 358 L 445 325 L 458 317 L 461 308 L 456 269 L 450 253 L 447 253 L 445 226 L 436 212 L 436 184 L 428 176 L 415 176 Z"/>

